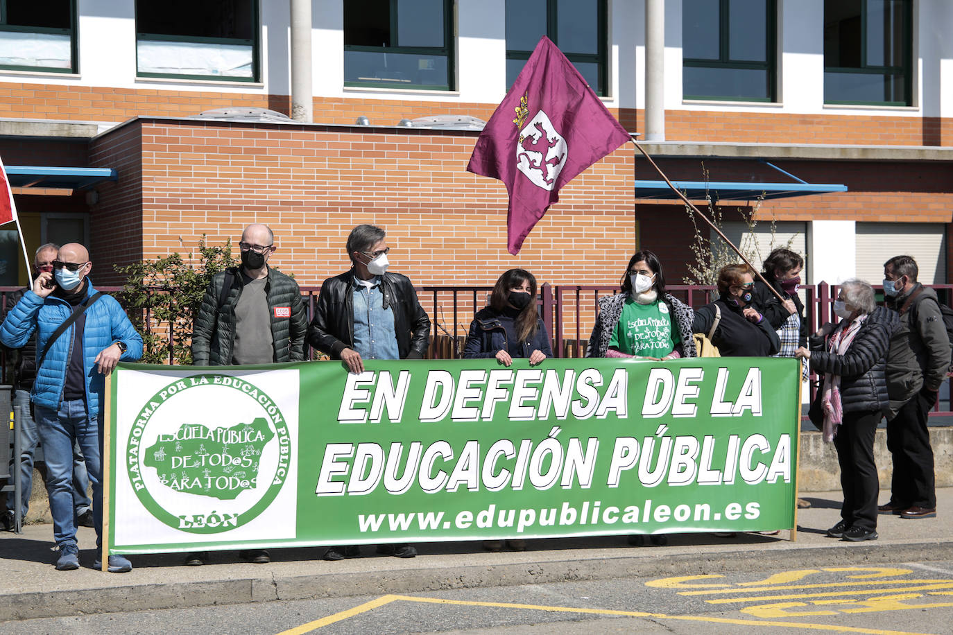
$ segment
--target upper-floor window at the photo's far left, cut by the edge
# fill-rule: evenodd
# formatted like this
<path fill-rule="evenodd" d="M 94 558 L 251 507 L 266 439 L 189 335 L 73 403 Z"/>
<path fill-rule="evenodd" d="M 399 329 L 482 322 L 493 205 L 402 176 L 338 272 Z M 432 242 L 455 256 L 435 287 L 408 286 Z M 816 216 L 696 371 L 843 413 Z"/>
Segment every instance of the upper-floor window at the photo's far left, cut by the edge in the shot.
<path fill-rule="evenodd" d="M 0 0 L 0 69 L 76 72 L 71 0 Z"/>

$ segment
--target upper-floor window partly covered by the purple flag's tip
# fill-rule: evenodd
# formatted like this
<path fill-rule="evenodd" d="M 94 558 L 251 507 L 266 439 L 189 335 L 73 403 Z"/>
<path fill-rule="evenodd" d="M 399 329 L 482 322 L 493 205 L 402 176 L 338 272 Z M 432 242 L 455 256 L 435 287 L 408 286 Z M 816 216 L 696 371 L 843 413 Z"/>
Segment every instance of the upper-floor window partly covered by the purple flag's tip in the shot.
<path fill-rule="evenodd" d="M 598 95 L 607 94 L 605 0 L 506 0 L 506 87 L 543 35 Z"/>

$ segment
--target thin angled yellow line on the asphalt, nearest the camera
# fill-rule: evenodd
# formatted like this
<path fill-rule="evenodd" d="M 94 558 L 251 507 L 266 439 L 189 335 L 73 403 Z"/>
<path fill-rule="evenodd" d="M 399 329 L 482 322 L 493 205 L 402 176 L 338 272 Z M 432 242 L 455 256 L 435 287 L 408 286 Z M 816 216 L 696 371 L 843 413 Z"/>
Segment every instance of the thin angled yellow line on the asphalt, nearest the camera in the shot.
<path fill-rule="evenodd" d="M 423 598 L 410 595 L 384 595 L 371 602 L 355 606 L 314 622 L 297 626 L 278 635 L 301 635 L 321 626 L 334 624 L 341 620 L 353 617 L 359 613 L 369 611 L 377 606 L 388 605 L 396 600 L 416 602 L 420 604 L 461 605 L 461 606 L 496 606 L 500 608 L 524 608 L 563 613 L 583 613 L 591 615 L 618 615 L 624 617 L 652 617 L 662 620 L 679 620 L 683 622 L 708 622 L 717 624 L 745 625 L 745 626 L 780 626 L 786 628 L 801 628 L 803 630 L 830 630 L 842 633 L 866 633 L 868 635 L 929 635 L 928 633 L 914 633 L 901 630 L 885 630 L 882 628 L 862 628 L 858 626 L 802 624 L 798 622 L 775 622 L 770 620 L 737 620 L 732 618 L 696 616 L 696 615 L 666 615 L 664 613 L 645 613 L 642 611 L 619 611 L 605 608 L 578 608 L 575 606 L 547 606 L 547 605 L 518 605 L 506 602 L 475 602 L 470 600 L 443 600 L 439 598 Z"/>

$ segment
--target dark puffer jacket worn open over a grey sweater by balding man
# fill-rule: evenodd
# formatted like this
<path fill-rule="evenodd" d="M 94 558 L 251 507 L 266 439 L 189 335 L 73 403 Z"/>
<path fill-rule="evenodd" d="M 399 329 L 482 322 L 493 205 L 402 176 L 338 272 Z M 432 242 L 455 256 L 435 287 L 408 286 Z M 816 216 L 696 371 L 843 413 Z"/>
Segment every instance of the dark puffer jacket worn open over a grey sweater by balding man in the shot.
<path fill-rule="evenodd" d="M 232 287 L 225 302 L 219 308 L 222 286 L 226 274 L 231 274 Z M 192 358 L 194 366 L 229 366 L 235 336 L 235 305 L 241 297 L 241 271 L 229 268 L 216 273 L 205 289 L 202 306 L 195 314 L 192 333 Z M 301 301 L 301 289 L 294 279 L 273 268 L 268 269 L 265 283 L 268 312 L 272 316 L 272 339 L 274 362 L 303 362 L 304 343 L 308 334 L 308 314 Z M 289 308 L 289 311 L 275 311 Z"/>

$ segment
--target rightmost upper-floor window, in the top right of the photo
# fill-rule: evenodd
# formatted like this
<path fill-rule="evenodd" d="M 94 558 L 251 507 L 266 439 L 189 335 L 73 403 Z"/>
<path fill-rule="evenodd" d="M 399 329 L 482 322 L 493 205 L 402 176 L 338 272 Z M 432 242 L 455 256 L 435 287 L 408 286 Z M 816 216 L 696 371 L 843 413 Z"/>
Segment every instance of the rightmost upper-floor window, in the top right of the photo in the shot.
<path fill-rule="evenodd" d="M 910 106 L 910 0 L 824 0 L 824 103 Z"/>

